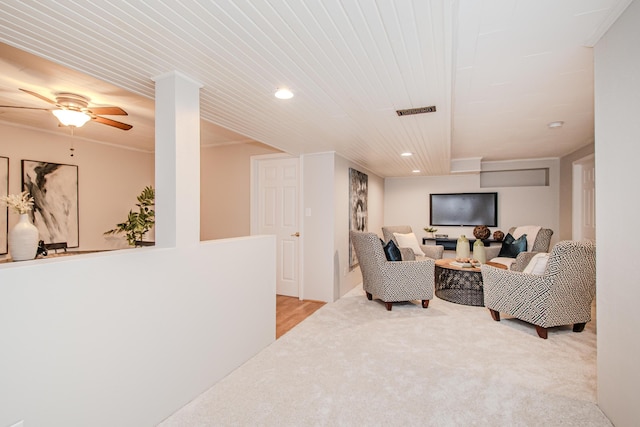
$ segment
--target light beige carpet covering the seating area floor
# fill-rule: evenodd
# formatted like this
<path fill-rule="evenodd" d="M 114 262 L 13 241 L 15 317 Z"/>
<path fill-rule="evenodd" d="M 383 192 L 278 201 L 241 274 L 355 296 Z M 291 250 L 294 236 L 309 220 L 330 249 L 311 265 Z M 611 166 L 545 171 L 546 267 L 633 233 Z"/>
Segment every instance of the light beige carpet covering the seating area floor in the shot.
<path fill-rule="evenodd" d="M 358 288 L 161 426 L 611 426 L 595 399 L 595 321 L 543 340 L 484 307 L 388 312 Z"/>

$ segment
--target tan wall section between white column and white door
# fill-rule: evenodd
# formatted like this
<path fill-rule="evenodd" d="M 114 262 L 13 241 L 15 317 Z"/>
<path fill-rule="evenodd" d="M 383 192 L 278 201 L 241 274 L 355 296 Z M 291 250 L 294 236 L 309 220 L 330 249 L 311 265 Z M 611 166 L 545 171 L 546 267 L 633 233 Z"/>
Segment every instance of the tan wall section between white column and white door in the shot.
<path fill-rule="evenodd" d="M 250 157 L 281 151 L 249 142 L 200 152 L 200 240 L 251 234 Z"/>

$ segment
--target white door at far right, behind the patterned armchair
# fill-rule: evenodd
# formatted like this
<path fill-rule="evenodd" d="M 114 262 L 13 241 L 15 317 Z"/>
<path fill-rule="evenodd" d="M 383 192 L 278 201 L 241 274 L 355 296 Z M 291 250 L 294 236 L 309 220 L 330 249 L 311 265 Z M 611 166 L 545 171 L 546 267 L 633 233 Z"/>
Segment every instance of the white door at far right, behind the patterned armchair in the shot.
<path fill-rule="evenodd" d="M 595 157 L 573 165 L 573 239 L 596 240 L 596 165 Z"/>

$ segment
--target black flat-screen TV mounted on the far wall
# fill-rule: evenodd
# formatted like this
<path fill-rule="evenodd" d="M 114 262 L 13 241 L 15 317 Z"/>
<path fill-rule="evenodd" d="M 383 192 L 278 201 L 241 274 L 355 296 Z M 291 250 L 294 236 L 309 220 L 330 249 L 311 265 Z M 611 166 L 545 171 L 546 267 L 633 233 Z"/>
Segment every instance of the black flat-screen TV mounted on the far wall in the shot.
<path fill-rule="evenodd" d="M 431 225 L 498 226 L 498 193 L 431 194 Z"/>

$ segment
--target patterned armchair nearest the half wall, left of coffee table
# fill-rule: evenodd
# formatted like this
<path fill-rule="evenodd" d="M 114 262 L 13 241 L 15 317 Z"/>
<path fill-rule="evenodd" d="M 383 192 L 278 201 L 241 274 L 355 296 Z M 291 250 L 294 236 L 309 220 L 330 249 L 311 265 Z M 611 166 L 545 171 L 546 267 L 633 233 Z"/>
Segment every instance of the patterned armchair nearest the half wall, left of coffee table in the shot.
<path fill-rule="evenodd" d="M 433 298 L 434 260 L 387 261 L 377 234 L 351 231 L 350 235 L 369 300 L 379 298 L 389 311 L 392 303 L 400 301 L 422 300 L 423 308 L 429 306 Z"/>

